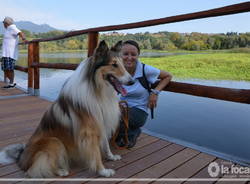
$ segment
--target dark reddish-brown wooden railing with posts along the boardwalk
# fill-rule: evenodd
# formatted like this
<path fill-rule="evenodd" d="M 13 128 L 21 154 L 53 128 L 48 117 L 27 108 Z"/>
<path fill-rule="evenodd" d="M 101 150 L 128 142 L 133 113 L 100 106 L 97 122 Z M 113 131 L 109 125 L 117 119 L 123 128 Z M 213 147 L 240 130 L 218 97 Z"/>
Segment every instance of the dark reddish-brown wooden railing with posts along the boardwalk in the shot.
<path fill-rule="evenodd" d="M 141 27 L 155 26 L 160 24 L 167 24 L 167 23 L 180 22 L 186 20 L 194 20 L 194 19 L 222 16 L 222 15 L 231 15 L 249 11 L 250 11 L 250 2 L 245 2 L 221 8 L 211 9 L 207 11 L 200 11 L 195 13 L 171 16 L 161 19 L 147 20 L 129 24 L 89 28 L 84 30 L 71 31 L 65 35 L 53 38 L 35 39 L 28 42 L 29 44 L 28 67 L 25 68 L 21 66 L 16 66 L 15 69 L 28 72 L 28 92 L 34 95 L 39 95 L 39 88 L 40 88 L 39 68 L 74 70 L 77 67 L 77 64 L 40 63 L 39 42 L 56 41 L 82 34 L 88 34 L 88 57 L 89 57 L 93 54 L 94 49 L 98 44 L 99 32 L 141 28 Z M 220 87 L 211 87 L 211 86 L 196 85 L 196 84 L 186 84 L 180 82 L 170 82 L 170 84 L 166 86 L 164 90 L 176 93 L 184 93 L 194 96 L 202 96 L 207 98 L 250 104 L 250 90 L 245 90 L 245 89 L 220 88 Z"/>

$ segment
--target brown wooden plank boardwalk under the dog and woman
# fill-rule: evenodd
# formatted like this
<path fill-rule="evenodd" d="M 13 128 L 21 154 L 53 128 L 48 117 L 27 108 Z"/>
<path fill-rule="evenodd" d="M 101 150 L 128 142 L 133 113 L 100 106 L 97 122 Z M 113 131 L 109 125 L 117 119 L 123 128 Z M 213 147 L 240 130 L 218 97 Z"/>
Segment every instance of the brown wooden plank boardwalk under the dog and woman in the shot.
<path fill-rule="evenodd" d="M 0 82 L 0 87 L 3 83 Z M 34 97 L 23 96 L 18 89 L 0 89 L 0 148 L 13 143 L 25 143 L 38 125 L 44 111 L 51 102 Z M 120 161 L 105 161 L 105 166 L 116 170 L 114 178 L 211 178 L 208 165 L 216 161 L 227 161 L 206 153 L 201 153 L 157 137 L 142 134 L 136 146 L 129 150 L 114 150 L 122 155 Z M 232 164 L 232 163 L 230 163 Z M 16 164 L 0 165 L 0 180 L 24 178 L 24 173 Z M 239 176 L 219 175 L 219 178 Z M 99 178 L 85 168 L 73 169 L 66 179 Z M 99 178 L 100 179 L 100 178 Z M 245 178 L 247 179 L 247 178 Z M 133 183 L 169 183 L 167 181 L 133 181 Z M 205 181 L 202 183 L 224 183 L 225 181 Z M 3 183 L 3 181 L 0 181 Z M 5 183 L 33 183 L 7 181 Z M 70 181 L 39 183 L 71 183 Z M 74 183 L 97 183 L 97 181 L 78 181 Z M 98 182 L 100 183 L 100 182 Z M 102 181 L 102 183 L 129 183 L 128 181 Z M 201 183 L 201 181 L 174 181 L 171 183 Z M 235 181 L 233 183 L 247 183 Z"/>

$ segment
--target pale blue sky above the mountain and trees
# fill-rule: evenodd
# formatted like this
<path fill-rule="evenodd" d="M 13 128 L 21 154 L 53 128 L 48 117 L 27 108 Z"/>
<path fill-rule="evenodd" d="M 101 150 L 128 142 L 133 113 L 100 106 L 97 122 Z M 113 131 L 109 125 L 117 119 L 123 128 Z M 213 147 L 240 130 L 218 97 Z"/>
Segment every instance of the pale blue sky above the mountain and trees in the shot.
<path fill-rule="evenodd" d="M 247 2 L 244 0 L 0 0 L 0 20 L 49 24 L 60 30 L 81 30 L 99 26 L 132 23 L 203 11 Z M 250 32 L 250 12 L 190 20 L 146 28 L 122 30 L 137 32 Z"/>

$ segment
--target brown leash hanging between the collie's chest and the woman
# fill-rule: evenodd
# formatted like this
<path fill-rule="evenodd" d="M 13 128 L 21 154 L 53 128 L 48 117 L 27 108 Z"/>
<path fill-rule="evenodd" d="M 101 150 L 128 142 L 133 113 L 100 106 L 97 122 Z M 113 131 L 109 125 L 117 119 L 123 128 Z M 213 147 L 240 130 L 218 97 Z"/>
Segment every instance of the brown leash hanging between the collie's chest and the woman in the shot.
<path fill-rule="evenodd" d="M 116 144 L 116 138 L 119 134 L 119 130 L 120 128 L 118 128 L 115 132 L 115 134 L 113 135 L 113 137 L 111 138 L 111 145 L 116 148 L 116 149 L 126 149 L 127 148 L 127 145 L 128 145 L 128 119 L 129 119 L 129 115 L 128 115 L 128 103 L 126 101 L 120 101 L 119 102 L 119 107 L 120 107 L 120 110 L 121 110 L 121 118 L 122 118 L 122 122 L 124 123 L 124 133 L 125 133 L 125 146 L 118 146 Z"/>

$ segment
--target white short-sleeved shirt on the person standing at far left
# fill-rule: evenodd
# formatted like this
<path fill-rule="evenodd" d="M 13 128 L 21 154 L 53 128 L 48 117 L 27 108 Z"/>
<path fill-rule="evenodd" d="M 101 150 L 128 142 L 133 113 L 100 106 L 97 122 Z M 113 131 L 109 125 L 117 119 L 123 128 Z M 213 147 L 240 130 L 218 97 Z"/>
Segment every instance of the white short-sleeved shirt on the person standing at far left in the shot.
<path fill-rule="evenodd" d="M 10 57 L 12 59 L 18 59 L 18 42 L 19 36 L 18 33 L 21 31 L 12 24 L 7 27 L 3 36 L 3 45 L 2 45 L 2 56 Z"/>

